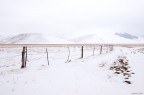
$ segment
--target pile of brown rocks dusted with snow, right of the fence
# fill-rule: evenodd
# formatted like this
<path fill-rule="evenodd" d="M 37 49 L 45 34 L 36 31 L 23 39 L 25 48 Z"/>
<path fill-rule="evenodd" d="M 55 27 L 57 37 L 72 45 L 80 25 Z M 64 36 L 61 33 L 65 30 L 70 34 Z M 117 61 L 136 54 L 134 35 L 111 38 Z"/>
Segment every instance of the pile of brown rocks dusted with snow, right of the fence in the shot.
<path fill-rule="evenodd" d="M 114 74 L 122 74 L 124 76 L 124 82 L 127 84 L 131 84 L 130 77 L 132 77 L 132 70 L 130 70 L 130 66 L 128 64 L 128 60 L 125 56 L 120 56 L 118 59 L 112 64 L 110 70 L 114 71 Z"/>

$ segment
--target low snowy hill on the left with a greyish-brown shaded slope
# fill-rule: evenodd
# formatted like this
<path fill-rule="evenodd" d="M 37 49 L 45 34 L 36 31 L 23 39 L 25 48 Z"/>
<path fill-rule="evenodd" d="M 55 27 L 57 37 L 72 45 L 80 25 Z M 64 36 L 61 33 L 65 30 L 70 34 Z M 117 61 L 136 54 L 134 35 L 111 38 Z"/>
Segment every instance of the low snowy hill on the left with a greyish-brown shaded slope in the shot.
<path fill-rule="evenodd" d="M 25 33 L 19 34 L 0 41 L 2 44 L 62 44 L 72 43 L 56 37 L 40 34 L 40 33 Z"/>

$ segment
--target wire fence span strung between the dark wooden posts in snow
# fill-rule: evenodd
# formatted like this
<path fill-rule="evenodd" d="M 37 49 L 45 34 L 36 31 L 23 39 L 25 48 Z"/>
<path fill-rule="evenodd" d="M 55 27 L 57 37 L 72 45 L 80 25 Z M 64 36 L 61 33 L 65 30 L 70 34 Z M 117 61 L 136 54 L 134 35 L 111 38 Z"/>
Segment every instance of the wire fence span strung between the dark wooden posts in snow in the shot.
<path fill-rule="evenodd" d="M 63 60 L 68 59 L 75 60 L 81 57 L 81 47 L 28 47 L 27 48 L 27 62 L 34 62 L 41 59 L 48 58 L 50 60 Z M 112 51 L 113 46 L 103 46 L 102 51 L 100 46 L 84 47 L 83 56 L 87 58 L 89 56 L 95 56 L 108 53 Z M 5 66 L 5 63 L 9 64 L 21 64 L 22 60 L 22 48 L 0 48 L 0 67 Z"/>

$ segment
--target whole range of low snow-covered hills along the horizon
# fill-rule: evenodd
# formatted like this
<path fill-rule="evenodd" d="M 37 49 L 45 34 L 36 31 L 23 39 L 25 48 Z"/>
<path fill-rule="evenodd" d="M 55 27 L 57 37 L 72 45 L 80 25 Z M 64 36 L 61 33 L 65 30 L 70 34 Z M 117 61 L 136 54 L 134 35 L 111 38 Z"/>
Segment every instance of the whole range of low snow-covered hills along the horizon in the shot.
<path fill-rule="evenodd" d="M 61 37 L 63 35 L 63 37 Z M 130 35 L 130 34 L 129 34 Z M 135 36 L 135 35 L 133 35 Z M 42 33 L 24 33 L 9 38 L 1 39 L 1 44 L 143 44 L 144 39 L 124 38 L 115 32 L 96 32 L 82 35 L 48 35 Z M 71 39 L 72 38 L 72 39 Z"/>

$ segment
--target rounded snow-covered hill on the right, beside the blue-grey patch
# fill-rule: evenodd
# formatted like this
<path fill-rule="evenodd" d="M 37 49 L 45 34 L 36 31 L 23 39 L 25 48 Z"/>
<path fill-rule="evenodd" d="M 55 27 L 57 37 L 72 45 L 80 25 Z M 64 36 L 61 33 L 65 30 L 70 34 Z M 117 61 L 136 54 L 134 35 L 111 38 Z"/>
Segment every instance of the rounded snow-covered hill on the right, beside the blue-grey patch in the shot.
<path fill-rule="evenodd" d="M 129 39 L 116 35 L 116 33 L 95 33 L 73 39 L 76 43 L 114 43 L 114 44 L 127 44 L 127 43 L 143 43 L 137 39 Z"/>

